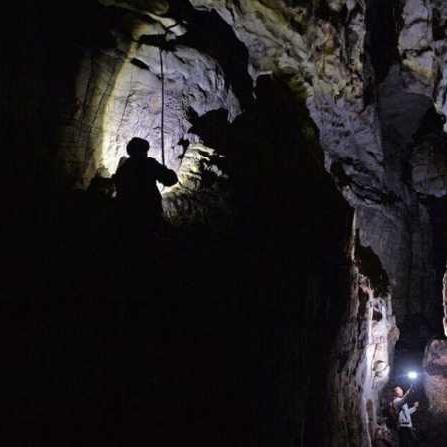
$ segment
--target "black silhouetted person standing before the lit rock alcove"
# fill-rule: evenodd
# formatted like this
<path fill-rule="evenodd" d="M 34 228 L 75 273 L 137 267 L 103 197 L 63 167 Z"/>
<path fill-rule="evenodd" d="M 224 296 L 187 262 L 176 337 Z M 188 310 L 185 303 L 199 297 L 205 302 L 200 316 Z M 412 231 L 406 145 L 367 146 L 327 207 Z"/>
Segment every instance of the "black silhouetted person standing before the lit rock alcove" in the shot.
<path fill-rule="evenodd" d="M 121 218 L 137 228 L 157 229 L 163 215 L 157 181 L 172 186 L 178 179 L 174 171 L 147 156 L 149 147 L 146 140 L 132 138 L 127 144 L 129 158 L 120 163 L 113 179 Z"/>

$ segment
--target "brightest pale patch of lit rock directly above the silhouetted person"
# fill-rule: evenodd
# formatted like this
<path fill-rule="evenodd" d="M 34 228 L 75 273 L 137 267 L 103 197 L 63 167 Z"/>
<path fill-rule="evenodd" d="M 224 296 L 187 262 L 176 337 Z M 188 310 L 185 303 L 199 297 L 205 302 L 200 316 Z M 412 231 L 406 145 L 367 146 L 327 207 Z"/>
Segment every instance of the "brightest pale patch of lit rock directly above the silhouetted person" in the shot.
<path fill-rule="evenodd" d="M 196 49 L 179 47 L 160 55 L 158 48 L 142 46 L 132 54 L 134 58 L 123 63 L 108 98 L 100 162 L 113 172 L 127 141 L 139 136 L 150 141 L 159 161 L 164 157 L 167 165 L 177 170 L 184 152 L 181 141 L 198 140 L 188 133 L 191 114 L 224 109 L 231 121 L 240 112 L 239 101 L 227 88 L 217 61 Z M 160 57 L 164 59 L 164 79 Z"/>

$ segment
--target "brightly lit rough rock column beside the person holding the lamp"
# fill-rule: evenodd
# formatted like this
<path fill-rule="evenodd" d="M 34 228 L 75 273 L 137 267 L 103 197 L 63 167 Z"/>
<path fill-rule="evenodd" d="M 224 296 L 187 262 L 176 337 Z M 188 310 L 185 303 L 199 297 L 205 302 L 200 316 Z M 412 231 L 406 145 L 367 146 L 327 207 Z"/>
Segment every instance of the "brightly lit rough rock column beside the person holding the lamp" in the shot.
<path fill-rule="evenodd" d="M 333 415 L 329 445 L 333 446 L 370 447 L 386 433 L 383 421 L 378 420 L 380 394 L 389 379 L 399 330 L 386 273 L 377 261 L 375 268 L 379 270 L 371 270 L 371 259 L 375 255 L 353 237 L 351 300 L 333 352 L 329 379 Z M 383 274 L 385 277 L 379 278 Z"/>

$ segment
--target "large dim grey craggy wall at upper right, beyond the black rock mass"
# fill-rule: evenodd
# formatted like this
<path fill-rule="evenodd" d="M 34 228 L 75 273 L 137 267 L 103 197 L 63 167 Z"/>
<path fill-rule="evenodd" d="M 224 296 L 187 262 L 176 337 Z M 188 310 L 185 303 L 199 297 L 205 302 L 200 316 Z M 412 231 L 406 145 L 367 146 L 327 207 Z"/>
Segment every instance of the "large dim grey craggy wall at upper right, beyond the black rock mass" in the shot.
<path fill-rule="evenodd" d="M 420 194 L 444 195 L 444 161 L 434 167 L 426 143 L 414 150 L 413 140 L 435 102 L 443 107 L 442 2 L 192 3 L 231 25 L 253 78 L 282 74 L 292 90 L 301 81 L 326 168 L 390 274 L 399 319 L 422 313 L 439 325 L 442 275 L 427 279 L 433 228 Z"/>

